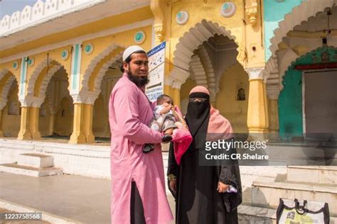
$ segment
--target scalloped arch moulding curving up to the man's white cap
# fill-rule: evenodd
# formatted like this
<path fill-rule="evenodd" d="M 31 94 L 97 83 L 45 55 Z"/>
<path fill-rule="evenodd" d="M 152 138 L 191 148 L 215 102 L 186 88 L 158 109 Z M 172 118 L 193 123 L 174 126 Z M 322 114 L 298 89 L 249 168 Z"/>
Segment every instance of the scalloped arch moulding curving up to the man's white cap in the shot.
<path fill-rule="evenodd" d="M 109 45 L 109 47 L 107 47 L 103 52 L 101 52 L 99 55 L 97 55 L 94 59 L 91 60 L 90 65 L 88 65 L 88 67 L 85 70 L 85 73 L 83 75 L 83 79 L 82 79 L 82 90 L 83 91 L 89 91 L 89 86 L 88 86 L 89 79 L 90 79 L 90 76 L 91 76 L 92 72 L 94 71 L 95 67 L 97 66 L 97 64 L 103 58 L 105 58 L 107 55 L 109 55 L 112 51 L 116 50 L 117 47 L 122 47 L 124 49 L 124 46 L 121 46 L 121 45 L 115 45 L 115 44 Z"/>

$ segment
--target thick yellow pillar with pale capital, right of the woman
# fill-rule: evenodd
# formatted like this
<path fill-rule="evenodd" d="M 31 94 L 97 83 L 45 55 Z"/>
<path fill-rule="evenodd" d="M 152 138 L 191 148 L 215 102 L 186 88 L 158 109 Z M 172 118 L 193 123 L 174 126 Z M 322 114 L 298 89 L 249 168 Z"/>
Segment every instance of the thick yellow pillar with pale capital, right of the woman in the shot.
<path fill-rule="evenodd" d="M 250 77 L 247 126 L 250 135 L 267 133 L 269 127 L 266 86 L 262 77 L 263 67 L 246 69 Z"/>

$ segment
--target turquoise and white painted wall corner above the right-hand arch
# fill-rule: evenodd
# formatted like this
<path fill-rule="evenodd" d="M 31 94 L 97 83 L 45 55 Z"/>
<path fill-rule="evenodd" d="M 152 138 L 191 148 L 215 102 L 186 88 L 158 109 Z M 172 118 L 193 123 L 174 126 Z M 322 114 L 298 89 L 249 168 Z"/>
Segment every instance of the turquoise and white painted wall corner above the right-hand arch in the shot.
<path fill-rule="evenodd" d="M 291 10 L 301 4 L 305 0 L 284 0 L 279 2 L 277 0 L 264 0 L 264 50 L 266 62 L 272 52 L 269 47 L 271 45 L 270 39 L 274 36 L 274 30 L 279 27 L 279 22 L 284 19 L 284 16 L 291 12 Z M 318 0 L 320 1 L 320 0 Z"/>

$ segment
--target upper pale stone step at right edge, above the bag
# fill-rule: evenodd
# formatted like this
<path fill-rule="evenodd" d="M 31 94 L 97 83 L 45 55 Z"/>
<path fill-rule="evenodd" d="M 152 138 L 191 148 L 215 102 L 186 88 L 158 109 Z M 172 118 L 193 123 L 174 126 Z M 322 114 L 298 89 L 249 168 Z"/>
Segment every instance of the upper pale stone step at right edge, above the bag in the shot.
<path fill-rule="evenodd" d="M 287 168 L 287 181 L 337 184 L 337 167 L 289 166 Z"/>

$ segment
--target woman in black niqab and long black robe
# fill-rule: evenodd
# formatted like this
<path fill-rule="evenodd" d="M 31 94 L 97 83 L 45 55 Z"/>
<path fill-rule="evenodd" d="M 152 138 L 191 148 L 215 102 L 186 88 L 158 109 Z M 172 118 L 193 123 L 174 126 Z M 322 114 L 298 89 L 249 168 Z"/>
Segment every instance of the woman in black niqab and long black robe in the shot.
<path fill-rule="evenodd" d="M 180 166 L 176 164 L 173 145 L 170 147 L 168 174 L 169 177 L 176 177 L 176 191 L 173 192 L 176 198 L 176 223 L 235 224 L 238 223 L 236 208 L 242 196 L 238 165 L 233 167 L 199 164 L 200 151 L 205 150 L 212 109 L 208 90 L 200 87 L 192 89 L 189 95 L 185 118 L 193 142 L 181 157 Z M 237 193 L 219 193 L 219 181 L 235 186 Z"/>

